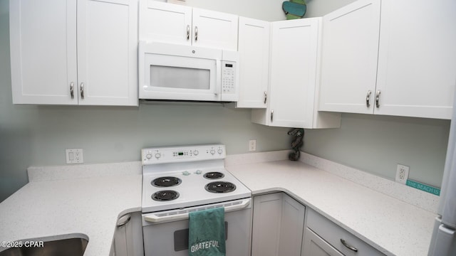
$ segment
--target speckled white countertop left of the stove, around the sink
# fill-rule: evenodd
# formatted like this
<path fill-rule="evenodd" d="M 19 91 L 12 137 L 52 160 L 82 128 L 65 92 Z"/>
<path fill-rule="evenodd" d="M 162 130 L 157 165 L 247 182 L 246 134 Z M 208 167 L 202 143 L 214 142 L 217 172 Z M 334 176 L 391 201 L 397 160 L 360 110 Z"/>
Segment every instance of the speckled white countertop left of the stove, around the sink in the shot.
<path fill-rule="evenodd" d="M 51 174 L 55 170 L 73 176 L 81 169 L 85 173 L 87 166 L 37 168 L 48 178 L 29 169 L 31 182 L 0 203 L 0 241 L 88 238 L 84 255 L 109 255 L 118 218 L 141 210 L 140 164 L 128 165 L 127 172 L 107 168 L 82 178 Z"/>

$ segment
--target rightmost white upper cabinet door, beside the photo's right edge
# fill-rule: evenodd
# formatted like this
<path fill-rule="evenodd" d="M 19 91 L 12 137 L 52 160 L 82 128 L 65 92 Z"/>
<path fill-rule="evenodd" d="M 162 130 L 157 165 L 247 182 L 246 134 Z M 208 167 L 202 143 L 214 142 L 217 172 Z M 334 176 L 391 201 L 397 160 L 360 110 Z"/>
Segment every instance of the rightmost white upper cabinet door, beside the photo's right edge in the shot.
<path fill-rule="evenodd" d="M 450 119 L 456 1 L 382 0 L 376 114 Z"/>

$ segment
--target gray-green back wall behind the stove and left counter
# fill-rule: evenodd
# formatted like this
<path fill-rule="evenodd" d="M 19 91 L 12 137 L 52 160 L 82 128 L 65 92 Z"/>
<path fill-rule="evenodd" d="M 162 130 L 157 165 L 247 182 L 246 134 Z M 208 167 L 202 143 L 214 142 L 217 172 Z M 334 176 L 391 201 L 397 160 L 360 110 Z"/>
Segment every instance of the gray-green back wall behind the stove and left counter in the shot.
<path fill-rule="evenodd" d="M 268 6 L 279 2 L 269 1 Z M 207 4 L 216 11 L 226 8 Z M 252 124 L 249 110 L 220 104 L 12 105 L 8 9 L 9 1 L 0 0 L 0 201 L 27 183 L 27 166 L 65 164 L 68 148 L 82 148 L 86 163 L 137 161 L 145 146 L 215 142 L 226 144 L 227 154 L 242 154 L 248 151 L 249 139 L 257 139 L 258 151 L 289 148 L 288 129 Z M 236 9 L 253 18 L 283 16 L 281 9 L 273 8 L 249 13 L 239 0 L 229 10 Z"/>

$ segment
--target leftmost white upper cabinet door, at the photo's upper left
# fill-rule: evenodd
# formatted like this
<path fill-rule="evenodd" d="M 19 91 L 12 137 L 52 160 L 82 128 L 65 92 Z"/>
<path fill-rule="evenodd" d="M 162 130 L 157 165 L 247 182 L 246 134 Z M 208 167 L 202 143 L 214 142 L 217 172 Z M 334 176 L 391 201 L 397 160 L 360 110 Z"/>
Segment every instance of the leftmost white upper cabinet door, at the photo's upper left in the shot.
<path fill-rule="evenodd" d="M 9 18 L 13 103 L 77 105 L 76 1 L 11 0 Z"/>

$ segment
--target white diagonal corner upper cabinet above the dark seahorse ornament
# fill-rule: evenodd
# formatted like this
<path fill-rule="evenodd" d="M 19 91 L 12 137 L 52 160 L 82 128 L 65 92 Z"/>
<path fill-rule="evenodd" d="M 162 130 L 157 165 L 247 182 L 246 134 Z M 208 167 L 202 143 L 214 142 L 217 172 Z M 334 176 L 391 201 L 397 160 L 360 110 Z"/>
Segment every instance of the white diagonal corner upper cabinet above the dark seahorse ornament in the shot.
<path fill-rule="evenodd" d="M 339 127 L 338 114 L 316 111 L 321 18 L 271 23 L 269 100 L 252 122 L 274 127 Z M 242 63 L 241 63 L 242 64 Z"/>

